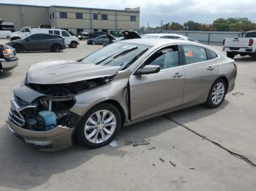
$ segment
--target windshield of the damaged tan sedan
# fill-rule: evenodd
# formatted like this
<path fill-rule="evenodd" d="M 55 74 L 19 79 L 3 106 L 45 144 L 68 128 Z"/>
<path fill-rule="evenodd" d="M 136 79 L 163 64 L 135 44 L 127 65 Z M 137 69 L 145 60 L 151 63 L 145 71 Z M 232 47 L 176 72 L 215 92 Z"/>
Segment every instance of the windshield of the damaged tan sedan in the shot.
<path fill-rule="evenodd" d="M 85 64 L 121 66 L 126 69 L 150 48 L 143 44 L 115 42 L 80 60 Z"/>

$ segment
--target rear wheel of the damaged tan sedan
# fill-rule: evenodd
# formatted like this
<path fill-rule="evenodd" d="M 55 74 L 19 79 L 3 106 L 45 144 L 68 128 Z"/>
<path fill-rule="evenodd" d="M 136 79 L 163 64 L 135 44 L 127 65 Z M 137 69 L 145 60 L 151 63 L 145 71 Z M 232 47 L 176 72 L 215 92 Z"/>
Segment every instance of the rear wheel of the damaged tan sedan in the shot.
<path fill-rule="evenodd" d="M 227 93 L 227 84 L 224 79 L 217 79 L 208 94 L 206 106 L 216 108 L 225 100 Z"/>

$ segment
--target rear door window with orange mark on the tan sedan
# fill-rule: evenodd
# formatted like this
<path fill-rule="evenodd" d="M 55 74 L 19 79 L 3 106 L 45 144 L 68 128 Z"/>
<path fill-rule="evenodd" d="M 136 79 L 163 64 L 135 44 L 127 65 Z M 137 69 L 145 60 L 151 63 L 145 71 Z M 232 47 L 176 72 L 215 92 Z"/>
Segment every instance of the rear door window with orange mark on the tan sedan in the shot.
<path fill-rule="evenodd" d="M 206 49 L 195 45 L 183 45 L 186 64 L 207 61 Z"/>

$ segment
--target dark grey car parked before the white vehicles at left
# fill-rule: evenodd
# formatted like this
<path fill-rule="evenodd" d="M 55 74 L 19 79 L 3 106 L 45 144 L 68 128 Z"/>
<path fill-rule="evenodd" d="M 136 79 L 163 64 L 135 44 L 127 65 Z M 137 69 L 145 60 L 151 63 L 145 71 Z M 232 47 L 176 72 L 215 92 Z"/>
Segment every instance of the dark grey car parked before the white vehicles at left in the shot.
<path fill-rule="evenodd" d="M 60 52 L 65 49 L 64 39 L 53 34 L 31 34 L 23 39 L 8 42 L 16 52 L 46 51 Z"/>

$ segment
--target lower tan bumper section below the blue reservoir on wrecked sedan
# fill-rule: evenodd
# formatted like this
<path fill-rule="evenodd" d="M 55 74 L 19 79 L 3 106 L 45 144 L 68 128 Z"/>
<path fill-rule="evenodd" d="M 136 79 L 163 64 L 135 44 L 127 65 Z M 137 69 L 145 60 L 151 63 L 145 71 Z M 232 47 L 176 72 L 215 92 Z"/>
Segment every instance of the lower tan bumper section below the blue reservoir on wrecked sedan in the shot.
<path fill-rule="evenodd" d="M 39 149 L 55 151 L 72 146 L 72 133 L 74 128 L 58 125 L 48 131 L 34 131 L 18 127 L 12 121 L 7 120 L 7 127 L 12 133 L 19 136 L 28 144 L 33 144 Z"/>

